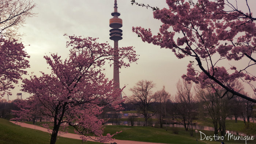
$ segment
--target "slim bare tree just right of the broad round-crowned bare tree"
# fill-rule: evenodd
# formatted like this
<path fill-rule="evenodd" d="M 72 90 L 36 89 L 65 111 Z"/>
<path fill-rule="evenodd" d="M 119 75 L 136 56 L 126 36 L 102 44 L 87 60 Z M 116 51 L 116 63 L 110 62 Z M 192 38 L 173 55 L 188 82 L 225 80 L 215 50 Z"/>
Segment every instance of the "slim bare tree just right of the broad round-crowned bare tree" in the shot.
<path fill-rule="evenodd" d="M 155 102 L 157 102 L 157 113 L 158 119 L 160 122 L 160 127 L 163 127 L 163 117 L 166 117 L 166 102 L 170 99 L 169 92 L 165 91 L 165 86 L 163 86 L 162 90 L 155 92 L 154 98 Z"/>

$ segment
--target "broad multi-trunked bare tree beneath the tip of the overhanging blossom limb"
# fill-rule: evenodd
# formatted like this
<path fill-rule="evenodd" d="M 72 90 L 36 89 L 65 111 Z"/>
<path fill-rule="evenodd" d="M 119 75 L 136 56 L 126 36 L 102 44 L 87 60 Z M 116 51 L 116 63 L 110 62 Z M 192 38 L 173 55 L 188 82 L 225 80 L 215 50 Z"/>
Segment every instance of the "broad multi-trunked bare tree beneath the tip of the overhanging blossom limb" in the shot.
<path fill-rule="evenodd" d="M 221 132 L 221 136 L 225 136 L 226 133 L 226 118 L 232 115 L 231 109 L 233 109 L 233 102 L 230 98 L 233 98 L 233 94 L 230 92 L 225 93 L 224 88 L 216 91 L 213 87 L 217 85 L 209 85 L 205 88 L 201 86 L 195 86 L 196 98 L 202 103 L 204 107 L 204 113 L 206 117 L 211 117 L 210 122 L 214 126 L 214 134 L 218 135 L 218 131 Z M 225 95 L 220 98 L 219 95 Z"/>

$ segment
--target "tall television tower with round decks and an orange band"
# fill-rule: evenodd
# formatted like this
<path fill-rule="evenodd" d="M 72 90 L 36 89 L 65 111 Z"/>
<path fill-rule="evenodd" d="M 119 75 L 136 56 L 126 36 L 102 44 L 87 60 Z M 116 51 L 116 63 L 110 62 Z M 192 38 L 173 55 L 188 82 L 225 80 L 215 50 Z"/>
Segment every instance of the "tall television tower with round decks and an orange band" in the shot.
<path fill-rule="evenodd" d="M 111 13 L 113 18 L 109 19 L 109 26 L 112 28 L 109 30 L 110 32 L 110 38 L 111 40 L 114 41 L 114 74 L 113 74 L 113 79 L 114 83 L 118 83 L 118 85 L 115 87 L 116 89 L 120 89 L 120 82 L 119 82 L 119 68 L 118 68 L 118 41 L 123 39 L 122 38 L 122 32 L 123 30 L 119 29 L 120 27 L 123 26 L 123 20 L 118 18 L 120 16 L 120 13 L 117 11 L 117 3 L 116 0 L 114 2 L 114 12 Z M 119 98 L 118 98 L 119 99 Z M 120 95 L 120 99 L 122 99 L 122 95 Z"/>

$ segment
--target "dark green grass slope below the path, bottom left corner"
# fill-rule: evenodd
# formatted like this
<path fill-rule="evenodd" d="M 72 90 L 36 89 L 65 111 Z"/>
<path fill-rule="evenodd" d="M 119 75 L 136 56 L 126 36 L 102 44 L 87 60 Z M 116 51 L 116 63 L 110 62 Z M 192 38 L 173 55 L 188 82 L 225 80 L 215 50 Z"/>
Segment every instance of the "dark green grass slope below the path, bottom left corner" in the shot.
<path fill-rule="evenodd" d="M 49 144 L 50 134 L 24 128 L 0 118 L 0 144 Z M 56 144 L 82 144 L 81 140 L 59 137 Z M 83 144 L 101 144 L 84 142 Z"/>

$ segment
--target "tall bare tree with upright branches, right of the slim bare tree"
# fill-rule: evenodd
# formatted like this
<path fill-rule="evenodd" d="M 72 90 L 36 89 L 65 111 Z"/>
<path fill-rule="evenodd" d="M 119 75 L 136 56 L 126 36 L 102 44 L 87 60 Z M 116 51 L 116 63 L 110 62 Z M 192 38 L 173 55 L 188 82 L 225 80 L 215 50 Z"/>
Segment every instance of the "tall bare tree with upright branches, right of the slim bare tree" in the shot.
<path fill-rule="evenodd" d="M 190 128 L 190 134 L 193 136 L 192 130 L 192 109 L 193 109 L 193 94 L 191 91 L 192 83 L 188 83 L 185 80 L 179 80 L 176 84 L 177 94 L 174 96 L 173 102 L 175 106 L 174 110 L 174 118 L 182 125 L 184 125 L 185 129 L 188 130 Z M 189 127 L 191 126 L 191 127 Z"/>

